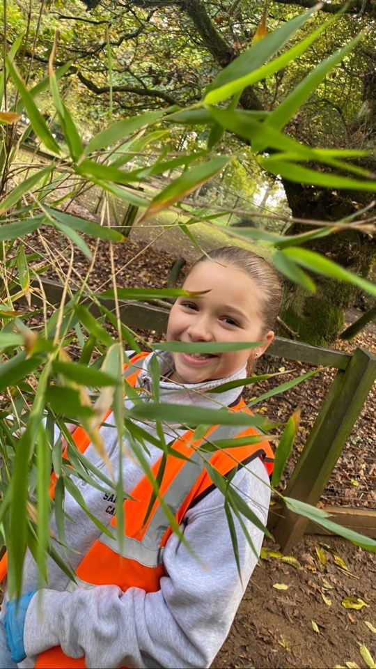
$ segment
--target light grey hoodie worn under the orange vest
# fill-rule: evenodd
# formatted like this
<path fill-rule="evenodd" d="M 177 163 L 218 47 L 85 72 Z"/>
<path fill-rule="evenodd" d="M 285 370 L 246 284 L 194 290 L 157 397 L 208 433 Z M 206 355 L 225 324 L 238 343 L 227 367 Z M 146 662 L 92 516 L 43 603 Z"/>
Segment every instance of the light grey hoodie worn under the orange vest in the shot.
<path fill-rule="evenodd" d="M 148 356 L 143 361 L 139 376 L 140 385 L 150 389 Z M 168 354 L 162 357 L 162 375 L 171 369 Z M 225 380 L 244 378 L 245 369 L 240 369 L 226 379 L 195 385 L 180 385 L 168 380 L 160 382 L 161 401 L 189 403 L 194 406 L 219 408 L 233 403 L 240 389 L 225 393 L 205 391 Z M 126 406 L 132 406 L 126 400 Z M 111 460 L 113 470 L 118 472 L 118 441 L 112 426 L 112 415 L 101 433 Z M 142 423 L 152 436 L 152 423 Z M 170 425 L 166 434 L 171 438 L 183 433 L 177 425 Z M 148 463 L 151 466 L 161 454 L 149 444 Z M 89 445 L 85 453 L 95 466 L 104 469 L 104 464 Z M 143 472 L 134 457 L 123 461 L 123 482 L 126 493 L 132 493 Z M 72 477 L 84 496 L 88 509 L 104 524 L 113 518 L 114 495 Z M 238 493 L 249 504 L 263 523 L 266 522 L 269 506 L 269 480 L 260 459 L 249 463 L 237 472 L 232 482 Z M 65 541 L 69 546 L 68 559 L 73 568 L 100 530 L 91 523 L 77 502 L 67 493 L 65 497 Z M 224 498 L 215 489 L 185 514 L 182 523 L 185 538 L 193 553 L 172 535 L 164 550 L 166 576 L 160 581 L 158 592 L 145 592 L 131 587 L 123 592 L 116 585 L 95 586 L 91 590 L 79 588 L 70 592 L 70 581 L 52 560 L 48 561 L 48 586 L 39 590 L 31 599 L 26 613 L 24 647 L 27 653 L 22 667 L 33 667 L 35 656 L 45 649 L 61 645 L 71 657 L 86 657 L 88 668 L 209 667 L 233 622 L 233 618 L 244 594 L 244 589 L 256 565 L 244 532 L 234 518 L 242 568 L 242 580 L 237 572 L 233 545 L 224 511 Z M 263 533 L 244 518 L 246 528 L 259 553 Z M 54 518 L 52 531 L 56 532 Z M 23 592 L 36 590 L 38 574 L 31 554 L 26 555 Z"/>

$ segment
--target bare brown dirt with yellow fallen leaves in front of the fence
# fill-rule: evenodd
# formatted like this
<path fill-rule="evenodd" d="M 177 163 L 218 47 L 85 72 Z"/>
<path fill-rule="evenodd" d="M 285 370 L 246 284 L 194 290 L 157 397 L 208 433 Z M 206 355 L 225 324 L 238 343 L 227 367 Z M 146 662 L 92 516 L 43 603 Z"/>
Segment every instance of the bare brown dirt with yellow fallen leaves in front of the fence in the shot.
<path fill-rule="evenodd" d="M 278 546 L 267 540 L 264 551 L 269 548 Z M 338 537 L 315 535 L 292 555 L 293 564 L 278 557 L 260 560 L 213 669 L 367 667 L 361 645 L 376 659 L 374 554 Z M 342 602 L 349 597 L 365 605 L 347 609 Z"/>

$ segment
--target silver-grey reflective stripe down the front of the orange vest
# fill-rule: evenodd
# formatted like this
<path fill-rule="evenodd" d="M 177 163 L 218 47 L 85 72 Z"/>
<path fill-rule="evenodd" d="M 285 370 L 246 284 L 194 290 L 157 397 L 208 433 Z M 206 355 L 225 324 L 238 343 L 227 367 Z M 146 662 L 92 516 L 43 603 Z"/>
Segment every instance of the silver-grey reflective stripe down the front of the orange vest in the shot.
<path fill-rule="evenodd" d="M 215 439 L 230 439 L 235 438 L 237 434 L 239 434 L 239 426 L 219 425 L 210 433 L 209 439 L 210 441 Z M 202 442 L 203 440 L 201 440 L 201 443 Z M 164 493 L 164 502 L 169 507 L 173 516 L 178 513 L 182 502 L 185 500 L 189 491 L 198 479 L 198 476 L 203 471 L 205 460 L 209 460 L 211 456 L 212 453 L 209 452 L 192 452 L 189 461 L 185 463 L 180 472 L 178 472 L 171 482 L 166 493 Z M 236 463 L 234 463 L 234 466 L 235 465 Z M 163 553 L 163 548 L 159 546 L 159 543 L 164 532 L 169 528 L 169 525 L 170 523 L 166 517 L 164 509 L 159 505 L 155 514 L 150 519 L 148 529 L 146 530 L 142 541 L 125 537 L 123 549 L 120 551 L 116 539 L 112 539 L 108 535 L 102 534 L 98 540 L 102 544 L 111 548 L 111 550 L 118 555 L 127 557 L 130 560 L 136 560 L 136 562 L 140 562 L 145 567 L 157 567 L 158 564 L 162 563 Z"/>

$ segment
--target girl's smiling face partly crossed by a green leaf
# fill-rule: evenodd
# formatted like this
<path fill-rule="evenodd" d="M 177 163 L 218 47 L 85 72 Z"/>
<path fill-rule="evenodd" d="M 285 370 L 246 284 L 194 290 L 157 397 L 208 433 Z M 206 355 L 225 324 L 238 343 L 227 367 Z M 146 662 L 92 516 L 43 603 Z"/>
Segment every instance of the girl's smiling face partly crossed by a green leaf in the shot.
<path fill-rule="evenodd" d="M 263 335 L 262 291 L 245 272 L 214 261 L 198 263 L 183 288 L 191 292 L 209 291 L 199 298 L 178 298 L 167 326 L 167 341 L 261 341 L 257 348 L 199 355 L 172 353 L 175 371 L 172 380 L 201 383 L 230 376 L 259 357 L 274 337 Z"/>

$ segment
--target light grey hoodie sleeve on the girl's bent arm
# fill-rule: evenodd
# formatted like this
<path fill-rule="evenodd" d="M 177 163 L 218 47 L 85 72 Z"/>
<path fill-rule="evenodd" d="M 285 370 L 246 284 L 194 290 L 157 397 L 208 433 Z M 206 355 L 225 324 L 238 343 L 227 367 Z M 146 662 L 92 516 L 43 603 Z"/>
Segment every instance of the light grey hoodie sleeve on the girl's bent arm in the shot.
<path fill-rule="evenodd" d="M 237 472 L 232 485 L 266 523 L 270 490 L 261 461 Z M 191 551 L 175 535 L 167 542 L 166 576 L 158 592 L 137 587 L 123 592 L 115 585 L 39 591 L 26 613 L 26 653 L 33 656 L 61 645 L 68 656 L 84 655 L 88 669 L 209 667 L 257 562 L 236 518 L 234 523 L 242 579 L 224 498 L 216 489 L 185 516 L 183 528 Z M 245 518 L 244 523 L 259 554 L 263 532 Z"/>

